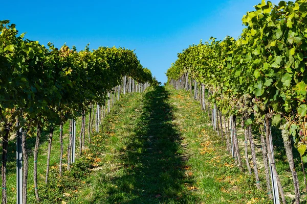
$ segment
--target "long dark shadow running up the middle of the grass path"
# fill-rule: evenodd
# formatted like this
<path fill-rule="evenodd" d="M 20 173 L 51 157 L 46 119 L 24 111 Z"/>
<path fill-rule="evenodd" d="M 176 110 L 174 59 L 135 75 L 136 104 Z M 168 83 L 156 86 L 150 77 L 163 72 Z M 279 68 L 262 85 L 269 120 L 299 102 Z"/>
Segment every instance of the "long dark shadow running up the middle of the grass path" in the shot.
<path fill-rule="evenodd" d="M 144 95 L 142 115 L 121 158 L 124 174 L 111 180 L 115 187 L 108 190 L 107 203 L 189 203 L 192 199 L 184 188 L 188 181 L 184 181 L 180 138 L 168 97 L 164 87 Z"/>

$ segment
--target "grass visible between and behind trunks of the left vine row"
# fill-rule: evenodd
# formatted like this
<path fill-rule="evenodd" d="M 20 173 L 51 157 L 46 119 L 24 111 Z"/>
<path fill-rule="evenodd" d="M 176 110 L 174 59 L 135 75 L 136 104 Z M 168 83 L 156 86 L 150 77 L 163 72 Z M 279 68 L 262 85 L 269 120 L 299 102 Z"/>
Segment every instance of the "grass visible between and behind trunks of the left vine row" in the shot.
<path fill-rule="evenodd" d="M 87 143 L 87 122 L 88 116 L 86 117 L 86 132 L 85 132 L 85 146 L 88 146 Z M 76 121 L 76 157 L 78 158 L 79 154 L 79 135 L 81 129 L 81 120 L 82 118 L 77 118 Z M 33 182 L 33 150 L 36 140 L 36 134 L 27 136 L 27 151 L 29 155 L 29 172 L 28 172 L 28 203 L 36 203 L 35 194 L 34 194 L 34 182 Z M 46 176 L 46 168 L 47 168 L 47 152 L 48 152 L 48 137 L 49 130 L 43 130 L 40 137 L 40 145 L 38 149 L 38 159 L 37 159 L 37 176 L 38 176 L 38 193 L 40 198 L 42 199 L 42 203 L 47 203 L 48 199 L 54 198 L 52 201 L 59 201 L 62 197 L 62 192 L 52 193 L 52 189 L 50 186 L 45 185 L 45 176 Z M 65 179 L 69 179 L 70 172 L 66 171 L 67 168 L 67 147 L 68 147 L 68 138 L 69 138 L 69 121 L 66 122 L 63 126 L 63 172 L 64 179 L 59 178 L 59 158 L 60 158 L 60 142 L 59 142 L 59 126 L 54 127 L 54 134 L 52 140 L 52 151 L 50 158 L 50 176 L 49 183 L 56 184 L 55 187 L 58 187 L 57 184 L 63 183 Z M 2 146 L 0 147 L 0 151 L 2 151 Z M 68 186 L 75 187 L 78 183 L 72 182 Z M 48 192 L 48 193 L 46 193 Z M 52 196 L 50 196 L 53 194 Z M 59 198 L 60 195 L 60 198 Z M 0 196 L 2 196 L 2 192 L 0 192 Z M 9 150 L 8 150 L 8 162 L 7 162 L 7 198 L 8 203 L 16 203 L 16 138 L 9 140 Z M 47 199 L 47 200 L 46 200 Z M 54 203 L 54 202 L 50 203 Z"/>

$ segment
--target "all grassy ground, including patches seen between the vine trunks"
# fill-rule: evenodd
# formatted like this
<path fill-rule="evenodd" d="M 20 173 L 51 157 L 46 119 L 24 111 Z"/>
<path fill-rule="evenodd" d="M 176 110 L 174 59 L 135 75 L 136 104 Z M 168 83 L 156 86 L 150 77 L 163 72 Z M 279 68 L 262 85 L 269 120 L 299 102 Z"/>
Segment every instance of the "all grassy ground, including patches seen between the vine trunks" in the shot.
<path fill-rule="evenodd" d="M 87 122 L 88 116 L 86 129 Z M 81 118 L 78 118 L 77 149 L 80 124 Z M 91 144 L 86 136 L 87 148 L 82 156 L 77 155 L 71 171 L 67 170 L 69 122 L 64 125 L 62 177 L 58 173 L 59 127 L 55 127 L 47 185 L 44 180 L 48 130 L 43 132 L 37 162 L 40 203 L 273 203 L 266 193 L 257 136 L 254 139 L 256 144 L 258 142 L 262 190 L 256 189 L 253 174 L 240 172 L 234 165 L 226 145 L 210 125 L 199 103 L 184 90 L 177 91 L 170 86 L 149 87 L 144 93 L 122 94 L 103 120 L 101 131 L 92 135 Z M 283 190 L 288 195 L 287 203 L 292 203 L 292 176 L 278 131 L 273 130 L 272 134 L 275 161 Z M 244 136 L 238 134 L 238 139 L 244 157 Z M 7 193 L 11 204 L 16 203 L 15 138 L 9 143 Z M 28 203 L 36 203 L 34 143 L 35 137 L 29 136 Z M 301 203 L 307 203 L 299 154 L 295 150 L 294 153 L 302 189 Z"/>

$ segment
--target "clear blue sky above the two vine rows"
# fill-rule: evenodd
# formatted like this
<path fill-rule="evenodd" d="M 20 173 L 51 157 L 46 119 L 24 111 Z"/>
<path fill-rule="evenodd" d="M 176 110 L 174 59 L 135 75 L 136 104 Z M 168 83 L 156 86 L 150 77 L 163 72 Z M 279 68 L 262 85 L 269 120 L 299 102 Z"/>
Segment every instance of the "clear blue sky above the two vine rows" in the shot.
<path fill-rule="evenodd" d="M 162 83 L 177 53 L 210 36 L 237 38 L 242 17 L 261 0 L 3 1 L 0 19 L 11 20 L 26 38 L 83 49 L 136 49 L 144 67 Z M 273 1 L 277 3 L 278 1 Z"/>

